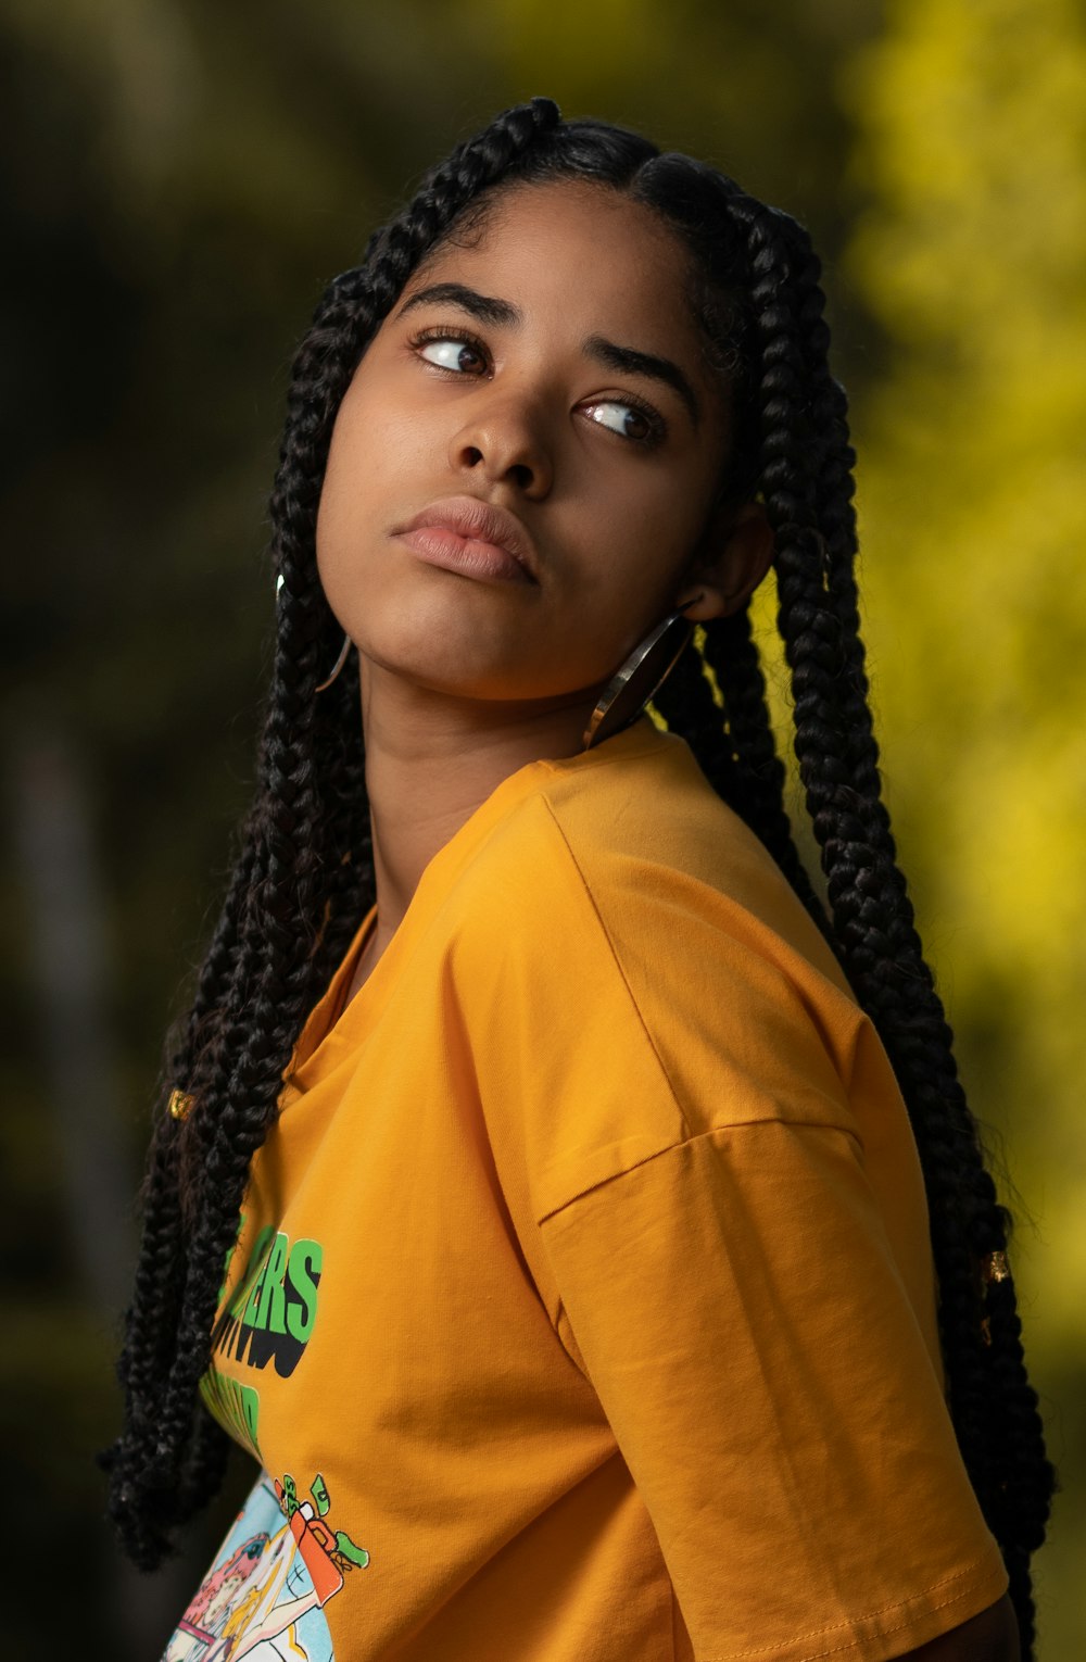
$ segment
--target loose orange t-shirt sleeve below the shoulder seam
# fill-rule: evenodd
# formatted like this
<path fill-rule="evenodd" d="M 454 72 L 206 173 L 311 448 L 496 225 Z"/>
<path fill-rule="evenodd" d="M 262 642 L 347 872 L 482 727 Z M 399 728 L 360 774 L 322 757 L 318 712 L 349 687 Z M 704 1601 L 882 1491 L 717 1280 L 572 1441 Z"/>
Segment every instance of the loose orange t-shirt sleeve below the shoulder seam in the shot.
<path fill-rule="evenodd" d="M 697 1662 L 875 1662 L 1000 1599 L 849 1128 L 712 1128 L 540 1228 Z"/>

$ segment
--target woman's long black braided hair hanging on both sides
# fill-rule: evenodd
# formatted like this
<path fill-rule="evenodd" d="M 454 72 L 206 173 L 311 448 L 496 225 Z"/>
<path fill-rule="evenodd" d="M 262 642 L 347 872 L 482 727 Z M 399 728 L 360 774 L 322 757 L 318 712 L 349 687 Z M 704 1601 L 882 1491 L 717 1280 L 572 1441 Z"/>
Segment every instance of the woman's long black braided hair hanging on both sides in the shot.
<path fill-rule="evenodd" d="M 686 299 L 732 406 L 721 495 L 761 495 L 774 530 L 794 748 L 829 906 L 792 839 L 749 605 L 696 632 L 656 706 L 774 856 L 885 1044 L 927 1185 L 950 1411 L 1008 1567 L 1028 1662 L 1030 1556 L 1054 1479 L 1005 1273 L 1010 1218 L 985 1168 L 880 794 L 854 577 L 855 455 L 829 367 L 819 259 L 792 218 L 716 170 L 623 128 L 563 123 L 546 98 L 505 111 L 423 178 L 362 263 L 329 284 L 296 354 L 271 497 L 281 583 L 257 791 L 154 1117 L 118 1365 L 125 1421 L 103 1456 L 110 1512 L 133 1561 L 153 1569 L 221 1481 L 226 1436 L 199 1403 L 199 1381 L 249 1162 L 306 1015 L 375 899 L 357 688 L 344 676 L 314 696 L 339 642 L 314 548 L 339 404 L 380 321 L 453 228 L 482 219 L 501 189 L 565 178 L 644 204 L 689 254 Z M 184 1117 L 169 1112 L 176 1090 L 191 1099 Z"/>

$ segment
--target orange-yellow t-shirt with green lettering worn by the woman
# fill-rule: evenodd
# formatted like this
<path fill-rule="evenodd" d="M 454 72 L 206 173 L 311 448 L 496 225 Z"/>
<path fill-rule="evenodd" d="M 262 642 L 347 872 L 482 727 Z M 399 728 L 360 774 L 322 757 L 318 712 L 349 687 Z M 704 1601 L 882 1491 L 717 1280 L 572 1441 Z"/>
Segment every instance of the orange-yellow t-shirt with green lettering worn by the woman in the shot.
<path fill-rule="evenodd" d="M 171 1662 L 875 1662 L 993 1604 L 897 1082 L 686 741 L 506 778 L 340 1014 L 372 921 L 254 1162 L 204 1394 L 262 1471 Z"/>

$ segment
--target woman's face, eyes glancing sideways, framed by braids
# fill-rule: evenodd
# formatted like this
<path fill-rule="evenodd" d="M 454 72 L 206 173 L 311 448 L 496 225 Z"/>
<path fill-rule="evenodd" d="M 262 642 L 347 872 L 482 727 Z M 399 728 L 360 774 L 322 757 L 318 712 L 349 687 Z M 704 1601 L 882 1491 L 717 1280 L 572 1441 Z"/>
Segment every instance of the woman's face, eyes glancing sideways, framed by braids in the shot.
<path fill-rule="evenodd" d="M 714 608 L 689 575 L 717 552 L 699 538 L 722 394 L 682 301 L 684 251 L 646 208 L 521 186 L 467 241 L 415 273 L 347 389 L 320 580 L 364 683 L 380 666 L 457 698 L 591 708 L 674 605 L 706 593 L 687 617 Z M 472 525 L 480 505 L 513 519 Z M 427 510 L 438 525 L 410 530 Z"/>

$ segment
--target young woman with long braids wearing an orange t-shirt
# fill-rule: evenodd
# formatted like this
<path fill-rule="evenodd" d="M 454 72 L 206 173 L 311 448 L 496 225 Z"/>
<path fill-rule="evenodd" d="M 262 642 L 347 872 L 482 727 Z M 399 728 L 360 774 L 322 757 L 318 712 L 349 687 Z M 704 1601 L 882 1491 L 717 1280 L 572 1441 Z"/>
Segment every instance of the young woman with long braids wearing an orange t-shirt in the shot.
<path fill-rule="evenodd" d="M 320 302 L 110 1454 L 144 1567 L 259 1463 L 174 1662 L 1031 1650 L 1051 1471 L 827 347 L 795 221 L 543 98 Z"/>

